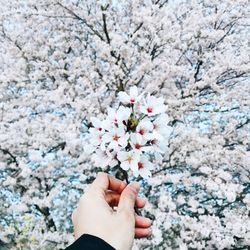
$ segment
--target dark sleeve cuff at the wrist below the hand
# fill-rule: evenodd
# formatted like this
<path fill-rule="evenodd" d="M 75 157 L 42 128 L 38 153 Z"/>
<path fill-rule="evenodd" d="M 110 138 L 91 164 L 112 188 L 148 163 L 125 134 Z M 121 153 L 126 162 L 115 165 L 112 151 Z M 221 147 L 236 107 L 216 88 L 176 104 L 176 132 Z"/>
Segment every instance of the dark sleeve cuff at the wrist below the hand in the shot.
<path fill-rule="evenodd" d="M 115 250 L 115 248 L 96 236 L 83 234 L 65 250 Z"/>

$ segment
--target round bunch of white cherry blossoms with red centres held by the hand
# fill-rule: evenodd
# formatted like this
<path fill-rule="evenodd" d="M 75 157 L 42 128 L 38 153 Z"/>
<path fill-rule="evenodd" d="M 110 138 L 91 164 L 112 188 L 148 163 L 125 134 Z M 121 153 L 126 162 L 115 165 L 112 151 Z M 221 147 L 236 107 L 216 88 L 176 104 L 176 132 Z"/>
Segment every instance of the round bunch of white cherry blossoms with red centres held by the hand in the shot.
<path fill-rule="evenodd" d="M 89 145 L 85 151 L 92 153 L 98 167 L 119 166 L 135 177 L 151 176 L 152 160 L 160 162 L 167 151 L 172 128 L 163 98 L 139 94 L 136 86 L 129 94 L 118 93 L 121 105 L 108 108 L 107 117 L 101 121 L 91 117 Z"/>

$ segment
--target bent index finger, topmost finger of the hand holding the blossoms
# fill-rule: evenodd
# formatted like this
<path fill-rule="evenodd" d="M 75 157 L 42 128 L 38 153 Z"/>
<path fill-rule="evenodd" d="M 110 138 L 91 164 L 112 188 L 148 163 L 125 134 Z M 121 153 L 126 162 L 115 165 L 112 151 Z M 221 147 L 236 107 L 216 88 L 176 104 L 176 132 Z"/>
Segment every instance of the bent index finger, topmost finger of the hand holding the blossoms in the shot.
<path fill-rule="evenodd" d="M 90 186 L 90 190 L 105 192 L 107 190 L 112 190 L 117 193 L 122 193 L 127 184 L 115 177 L 108 175 L 103 172 L 97 174 L 96 179 Z"/>

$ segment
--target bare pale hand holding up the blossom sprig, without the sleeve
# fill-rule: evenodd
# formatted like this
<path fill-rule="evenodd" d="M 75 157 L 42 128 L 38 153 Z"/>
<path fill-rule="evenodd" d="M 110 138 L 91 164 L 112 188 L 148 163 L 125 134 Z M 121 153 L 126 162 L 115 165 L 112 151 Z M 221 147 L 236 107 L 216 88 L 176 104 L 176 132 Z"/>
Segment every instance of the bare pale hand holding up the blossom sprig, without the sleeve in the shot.
<path fill-rule="evenodd" d="M 75 238 L 91 234 L 117 250 L 129 250 L 134 237 L 149 236 L 151 221 L 136 215 L 134 210 L 135 206 L 142 208 L 146 203 L 137 196 L 139 188 L 139 183 L 127 185 L 108 174 L 99 173 L 72 214 Z"/>

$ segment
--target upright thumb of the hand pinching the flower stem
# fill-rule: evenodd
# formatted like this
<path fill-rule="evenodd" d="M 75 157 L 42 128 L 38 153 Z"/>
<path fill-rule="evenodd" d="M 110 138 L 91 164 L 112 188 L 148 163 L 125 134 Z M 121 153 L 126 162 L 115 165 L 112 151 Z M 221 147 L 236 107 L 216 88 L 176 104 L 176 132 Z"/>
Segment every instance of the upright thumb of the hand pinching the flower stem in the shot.
<path fill-rule="evenodd" d="M 138 182 L 130 183 L 121 193 L 117 211 L 126 211 L 134 214 L 134 206 L 139 192 L 140 185 Z"/>

